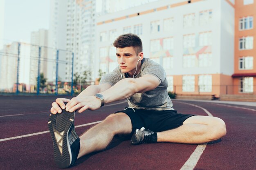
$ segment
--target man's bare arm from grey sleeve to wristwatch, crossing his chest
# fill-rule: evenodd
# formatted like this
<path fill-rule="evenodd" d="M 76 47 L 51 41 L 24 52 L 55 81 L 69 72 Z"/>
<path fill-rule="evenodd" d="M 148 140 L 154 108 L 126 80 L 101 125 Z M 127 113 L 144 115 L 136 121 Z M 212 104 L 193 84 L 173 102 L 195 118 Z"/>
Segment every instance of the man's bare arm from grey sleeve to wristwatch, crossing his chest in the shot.
<path fill-rule="evenodd" d="M 106 91 L 101 92 L 105 98 L 105 103 L 126 99 L 135 93 L 150 91 L 159 86 L 160 81 L 153 75 L 144 75 L 137 79 L 126 78 L 117 82 Z"/>

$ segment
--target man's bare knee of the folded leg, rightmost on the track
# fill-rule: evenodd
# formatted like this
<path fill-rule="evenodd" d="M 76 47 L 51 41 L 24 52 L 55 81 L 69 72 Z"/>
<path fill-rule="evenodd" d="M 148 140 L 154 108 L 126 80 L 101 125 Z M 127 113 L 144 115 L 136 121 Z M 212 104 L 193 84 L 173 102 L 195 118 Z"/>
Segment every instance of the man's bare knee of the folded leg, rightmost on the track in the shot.
<path fill-rule="evenodd" d="M 209 135 L 208 138 L 210 141 L 220 139 L 225 136 L 227 133 L 225 122 L 218 118 L 212 117 L 212 121 L 209 122 Z"/>

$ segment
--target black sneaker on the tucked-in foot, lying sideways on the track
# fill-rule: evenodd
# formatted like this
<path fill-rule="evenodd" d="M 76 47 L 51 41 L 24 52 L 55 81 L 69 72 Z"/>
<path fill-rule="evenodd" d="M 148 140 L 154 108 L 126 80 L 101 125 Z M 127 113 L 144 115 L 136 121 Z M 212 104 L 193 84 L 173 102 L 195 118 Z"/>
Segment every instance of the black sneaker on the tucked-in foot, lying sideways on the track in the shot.
<path fill-rule="evenodd" d="M 156 142 L 157 142 L 157 133 L 145 128 L 141 128 L 140 130 L 136 129 L 131 139 L 131 144 L 133 145 L 139 145 L 142 143 L 152 144 Z"/>

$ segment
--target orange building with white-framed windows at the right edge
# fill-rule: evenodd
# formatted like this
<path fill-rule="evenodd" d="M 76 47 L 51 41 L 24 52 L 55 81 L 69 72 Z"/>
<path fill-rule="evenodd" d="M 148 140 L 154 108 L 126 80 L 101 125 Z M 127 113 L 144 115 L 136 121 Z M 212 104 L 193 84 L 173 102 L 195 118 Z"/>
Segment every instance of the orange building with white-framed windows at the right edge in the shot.
<path fill-rule="evenodd" d="M 235 55 L 233 84 L 235 94 L 256 94 L 255 0 L 236 0 Z"/>

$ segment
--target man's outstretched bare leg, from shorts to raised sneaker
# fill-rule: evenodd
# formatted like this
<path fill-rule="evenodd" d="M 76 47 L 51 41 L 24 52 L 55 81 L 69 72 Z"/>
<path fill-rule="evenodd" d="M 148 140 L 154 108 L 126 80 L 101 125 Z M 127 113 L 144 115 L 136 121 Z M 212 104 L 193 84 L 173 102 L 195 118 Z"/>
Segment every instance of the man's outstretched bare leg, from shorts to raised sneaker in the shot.
<path fill-rule="evenodd" d="M 130 134 L 132 123 L 125 113 L 109 115 L 104 121 L 80 137 L 80 150 L 77 158 L 94 151 L 105 149 L 116 134 Z"/>

